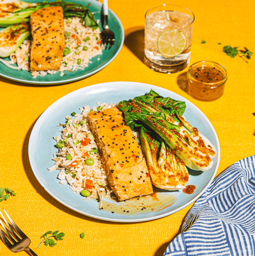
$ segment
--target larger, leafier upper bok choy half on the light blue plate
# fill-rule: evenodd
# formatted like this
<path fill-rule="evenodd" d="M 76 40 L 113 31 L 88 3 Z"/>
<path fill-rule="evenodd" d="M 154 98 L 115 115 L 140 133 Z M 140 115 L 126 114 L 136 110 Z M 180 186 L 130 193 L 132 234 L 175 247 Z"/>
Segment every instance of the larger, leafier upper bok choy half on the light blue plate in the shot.
<path fill-rule="evenodd" d="M 212 167 L 215 147 L 182 117 L 185 102 L 163 98 L 150 90 L 149 94 L 120 102 L 118 107 L 131 129 L 145 126 L 153 130 L 190 169 L 206 171 Z"/>

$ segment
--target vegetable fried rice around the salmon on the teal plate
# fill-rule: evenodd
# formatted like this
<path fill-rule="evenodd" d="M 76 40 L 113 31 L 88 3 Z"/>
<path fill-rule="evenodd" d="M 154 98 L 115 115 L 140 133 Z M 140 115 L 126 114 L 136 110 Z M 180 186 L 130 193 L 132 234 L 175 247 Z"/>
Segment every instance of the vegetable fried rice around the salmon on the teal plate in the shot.
<path fill-rule="evenodd" d="M 65 31 L 65 50 L 59 70 L 46 70 L 46 71 L 30 71 L 30 47 L 31 40 L 25 40 L 22 45 L 11 54 L 11 61 L 4 61 L 4 64 L 17 64 L 15 69 L 27 70 L 31 75 L 36 78 L 37 76 L 45 76 L 47 74 L 55 74 L 60 72 L 63 76 L 65 71 L 73 72 L 75 70 L 84 70 L 91 58 L 102 54 L 104 45 L 100 39 L 100 29 L 92 29 L 85 27 L 84 22 L 80 22 L 80 18 L 73 17 L 72 19 L 64 19 Z M 98 58 L 98 61 L 100 58 Z"/>

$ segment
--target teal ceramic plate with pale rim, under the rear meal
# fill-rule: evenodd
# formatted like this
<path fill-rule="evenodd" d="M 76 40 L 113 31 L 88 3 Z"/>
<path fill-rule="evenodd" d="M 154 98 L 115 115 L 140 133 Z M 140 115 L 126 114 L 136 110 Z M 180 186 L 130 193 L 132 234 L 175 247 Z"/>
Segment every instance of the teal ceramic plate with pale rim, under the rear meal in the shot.
<path fill-rule="evenodd" d="M 43 0 L 31 0 L 30 3 L 38 3 Z M 54 2 L 54 0 L 48 0 L 48 2 Z M 89 10 L 94 13 L 96 20 L 100 20 L 99 27 L 102 30 L 101 24 L 101 8 L 102 4 L 98 1 L 94 0 L 71 0 L 71 2 L 82 4 L 87 6 L 89 3 Z M 105 68 L 109 63 L 115 59 L 115 57 L 119 54 L 120 49 L 124 43 L 124 29 L 119 18 L 113 13 L 113 11 L 109 10 L 108 15 L 108 24 L 110 29 L 115 33 L 115 44 L 110 50 L 104 50 L 102 55 L 93 57 L 91 59 L 92 63 L 89 63 L 89 66 L 85 68 L 85 70 L 77 70 L 75 72 L 65 72 L 66 75 L 60 76 L 60 72 L 54 75 L 46 75 L 45 77 L 36 77 L 35 79 L 31 76 L 30 72 L 24 70 L 12 70 L 8 68 L 3 63 L 0 62 L 0 75 L 5 77 L 6 79 L 15 80 L 18 82 L 24 82 L 27 84 L 43 84 L 43 85 L 52 85 L 52 84 L 64 84 L 68 82 L 74 82 L 76 80 L 84 79 L 85 77 L 89 77 L 99 70 Z M 99 58 L 99 60 L 98 60 Z M 7 61 L 10 59 L 6 58 Z"/>

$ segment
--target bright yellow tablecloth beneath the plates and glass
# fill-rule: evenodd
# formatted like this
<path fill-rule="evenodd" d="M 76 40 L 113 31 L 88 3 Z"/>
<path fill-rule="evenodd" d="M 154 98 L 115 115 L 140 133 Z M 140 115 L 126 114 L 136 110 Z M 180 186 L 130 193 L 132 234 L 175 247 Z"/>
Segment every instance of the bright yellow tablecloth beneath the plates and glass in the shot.
<path fill-rule="evenodd" d="M 5 208 L 31 238 L 31 248 L 38 255 L 163 255 L 168 243 L 179 234 L 184 217 L 192 207 L 150 222 L 110 223 L 71 211 L 48 195 L 29 164 L 29 136 L 41 113 L 71 91 L 112 81 L 143 82 L 169 89 L 193 102 L 213 124 L 221 146 L 217 175 L 237 160 L 255 153 L 254 1 L 178 2 L 193 10 L 196 17 L 191 63 L 215 61 L 228 71 L 224 95 L 214 102 L 200 102 L 186 93 L 187 68 L 165 75 L 143 64 L 144 15 L 155 4 L 161 2 L 108 1 L 109 8 L 124 26 L 124 46 L 112 63 L 87 79 L 59 86 L 31 86 L 0 78 L 0 187 L 17 193 L 16 197 L 0 202 L 0 208 Z M 202 40 L 206 43 L 201 44 Z M 249 63 L 240 57 L 232 59 L 222 52 L 225 45 L 247 47 L 254 51 L 254 56 Z M 45 245 L 38 248 L 40 236 L 48 230 L 60 230 L 66 236 L 53 248 Z M 85 239 L 80 239 L 82 232 L 87 233 Z M 0 243 L 0 252 L 4 256 L 15 255 L 3 243 Z"/>

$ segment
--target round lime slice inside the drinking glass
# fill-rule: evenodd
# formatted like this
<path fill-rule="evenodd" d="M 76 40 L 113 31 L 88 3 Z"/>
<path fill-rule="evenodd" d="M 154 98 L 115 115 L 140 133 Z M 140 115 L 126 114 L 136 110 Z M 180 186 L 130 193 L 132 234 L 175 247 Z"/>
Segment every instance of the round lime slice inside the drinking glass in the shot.
<path fill-rule="evenodd" d="M 186 43 L 186 37 L 181 31 L 166 31 L 157 39 L 157 48 L 163 56 L 174 57 L 183 52 Z"/>

